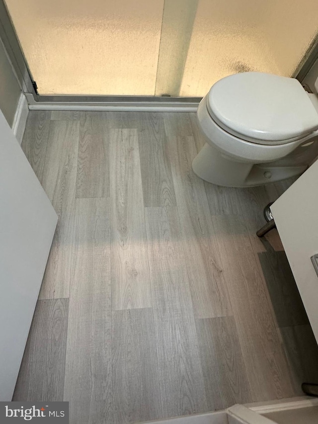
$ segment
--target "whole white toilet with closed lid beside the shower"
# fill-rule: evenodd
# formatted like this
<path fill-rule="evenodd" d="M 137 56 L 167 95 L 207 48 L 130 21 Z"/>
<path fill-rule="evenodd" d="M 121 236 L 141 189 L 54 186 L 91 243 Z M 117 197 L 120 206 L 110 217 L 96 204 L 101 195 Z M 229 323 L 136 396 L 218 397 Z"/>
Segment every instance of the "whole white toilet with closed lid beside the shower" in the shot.
<path fill-rule="evenodd" d="M 318 88 L 318 80 L 316 85 Z M 244 72 L 218 81 L 197 111 L 202 179 L 249 187 L 304 172 L 318 156 L 318 94 L 294 78 Z"/>

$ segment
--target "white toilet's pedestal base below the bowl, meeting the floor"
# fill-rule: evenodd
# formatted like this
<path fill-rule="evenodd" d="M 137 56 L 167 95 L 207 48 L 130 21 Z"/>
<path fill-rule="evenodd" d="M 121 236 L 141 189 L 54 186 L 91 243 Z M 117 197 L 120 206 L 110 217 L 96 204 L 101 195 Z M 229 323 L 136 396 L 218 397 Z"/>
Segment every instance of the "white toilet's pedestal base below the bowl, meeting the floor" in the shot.
<path fill-rule="evenodd" d="M 208 143 L 205 143 L 192 162 L 192 169 L 197 176 L 205 181 L 225 187 L 264 185 L 300 175 L 307 168 L 307 165 L 271 167 L 270 163 L 254 165 L 234 162 L 230 157 Z"/>

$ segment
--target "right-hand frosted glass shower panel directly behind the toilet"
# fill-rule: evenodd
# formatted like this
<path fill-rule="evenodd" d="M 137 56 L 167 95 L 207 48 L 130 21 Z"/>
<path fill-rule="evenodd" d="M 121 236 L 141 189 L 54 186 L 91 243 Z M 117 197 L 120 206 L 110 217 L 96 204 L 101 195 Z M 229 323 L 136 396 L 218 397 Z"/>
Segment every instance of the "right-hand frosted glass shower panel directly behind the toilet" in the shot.
<path fill-rule="evenodd" d="M 242 71 L 292 76 L 317 29 L 317 0 L 199 0 L 179 95 Z"/>

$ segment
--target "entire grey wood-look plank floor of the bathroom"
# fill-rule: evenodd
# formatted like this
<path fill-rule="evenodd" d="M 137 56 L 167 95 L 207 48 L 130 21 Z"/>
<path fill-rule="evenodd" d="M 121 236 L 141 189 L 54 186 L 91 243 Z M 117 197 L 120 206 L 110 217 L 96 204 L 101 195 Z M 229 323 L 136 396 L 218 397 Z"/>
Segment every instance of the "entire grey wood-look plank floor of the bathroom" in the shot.
<path fill-rule="evenodd" d="M 15 401 L 124 424 L 301 395 L 318 347 L 263 208 L 292 181 L 194 175 L 194 113 L 30 111 L 22 149 L 59 215 Z"/>

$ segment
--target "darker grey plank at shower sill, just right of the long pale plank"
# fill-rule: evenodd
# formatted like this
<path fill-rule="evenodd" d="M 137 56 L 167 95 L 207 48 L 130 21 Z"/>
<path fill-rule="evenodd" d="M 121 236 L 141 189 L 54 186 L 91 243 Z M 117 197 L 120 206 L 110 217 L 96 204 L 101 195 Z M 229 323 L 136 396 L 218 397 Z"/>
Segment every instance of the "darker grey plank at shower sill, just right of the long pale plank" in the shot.
<path fill-rule="evenodd" d="M 143 113 L 138 132 L 144 206 L 175 206 L 175 194 L 162 113 Z"/>

